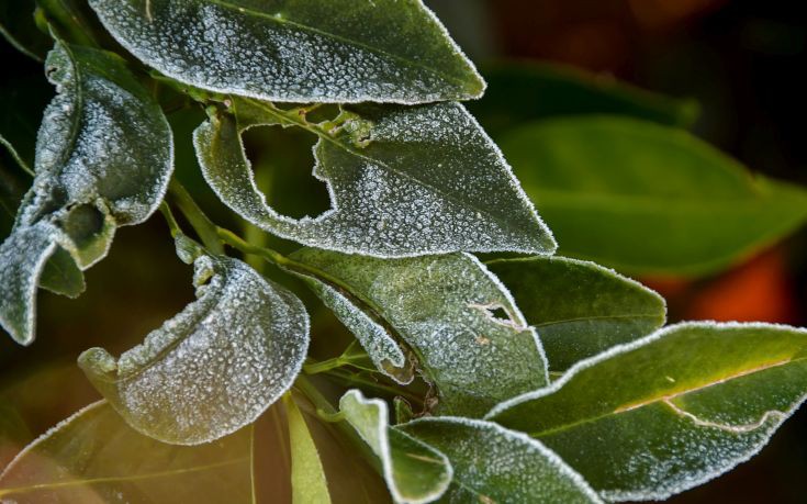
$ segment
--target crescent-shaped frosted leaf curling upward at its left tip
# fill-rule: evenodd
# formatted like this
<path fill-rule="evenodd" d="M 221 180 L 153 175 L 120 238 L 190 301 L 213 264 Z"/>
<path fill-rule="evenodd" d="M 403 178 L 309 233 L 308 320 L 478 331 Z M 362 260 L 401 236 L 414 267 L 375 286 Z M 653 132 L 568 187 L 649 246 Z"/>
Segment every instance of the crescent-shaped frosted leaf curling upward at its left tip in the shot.
<path fill-rule="evenodd" d="M 293 383 L 309 347 L 309 315 L 289 290 L 244 262 L 201 256 L 198 300 L 117 361 L 79 357 L 90 381 L 135 429 L 197 445 L 255 421 Z"/>

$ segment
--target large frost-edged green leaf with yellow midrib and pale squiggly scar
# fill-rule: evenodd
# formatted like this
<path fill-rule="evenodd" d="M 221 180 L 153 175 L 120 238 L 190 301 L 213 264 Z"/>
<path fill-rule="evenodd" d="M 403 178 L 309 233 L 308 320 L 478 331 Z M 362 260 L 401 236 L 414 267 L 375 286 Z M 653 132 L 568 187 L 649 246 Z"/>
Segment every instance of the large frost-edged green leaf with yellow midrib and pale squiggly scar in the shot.
<path fill-rule="evenodd" d="M 807 331 L 687 323 L 486 418 L 541 440 L 607 500 L 660 500 L 751 458 L 806 395 Z"/>

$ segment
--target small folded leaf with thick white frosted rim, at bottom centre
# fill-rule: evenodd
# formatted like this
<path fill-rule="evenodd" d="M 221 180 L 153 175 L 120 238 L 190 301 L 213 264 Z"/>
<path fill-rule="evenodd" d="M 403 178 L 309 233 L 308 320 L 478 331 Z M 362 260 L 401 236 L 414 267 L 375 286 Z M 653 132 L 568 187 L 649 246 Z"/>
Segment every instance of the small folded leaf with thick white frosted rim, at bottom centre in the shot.
<path fill-rule="evenodd" d="M 350 390 L 339 400 L 339 410 L 381 460 L 396 503 L 426 503 L 442 495 L 452 474 L 448 459 L 408 434 L 390 428 L 385 402 Z"/>

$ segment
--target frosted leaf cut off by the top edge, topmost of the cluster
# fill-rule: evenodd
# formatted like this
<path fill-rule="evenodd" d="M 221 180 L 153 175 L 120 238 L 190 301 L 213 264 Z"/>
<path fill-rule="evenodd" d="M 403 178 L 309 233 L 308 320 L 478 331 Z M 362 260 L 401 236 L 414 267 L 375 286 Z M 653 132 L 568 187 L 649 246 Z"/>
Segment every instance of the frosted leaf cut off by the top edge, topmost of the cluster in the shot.
<path fill-rule="evenodd" d="M 419 0 L 91 0 L 160 72 L 271 101 L 423 103 L 484 81 Z"/>

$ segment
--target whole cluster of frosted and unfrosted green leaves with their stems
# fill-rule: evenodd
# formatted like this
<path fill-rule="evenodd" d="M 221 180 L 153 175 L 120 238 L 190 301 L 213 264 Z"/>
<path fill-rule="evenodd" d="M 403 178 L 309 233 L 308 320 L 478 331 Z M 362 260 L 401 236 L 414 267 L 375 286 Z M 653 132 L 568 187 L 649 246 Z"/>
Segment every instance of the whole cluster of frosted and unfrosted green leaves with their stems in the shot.
<path fill-rule="evenodd" d="M 804 191 L 751 178 L 677 128 L 690 105 L 524 75 L 523 89 L 483 103 L 498 113 L 492 131 L 525 192 L 459 103 L 484 81 L 418 0 L 89 4 L 38 1 L 33 16 L 53 37 L 45 70 L 57 94 L 33 186 L 0 245 L 0 324 L 30 344 L 37 289 L 79 295 L 117 226 L 158 208 L 193 264 L 198 299 L 117 358 L 81 355 L 104 400 L 23 450 L 0 497 L 149 502 L 179 500 L 182 486 L 183 501 L 254 501 L 255 425 L 282 404 L 294 502 L 336 500 L 317 422 L 355 443 L 396 502 L 663 499 L 753 456 L 805 400 L 807 331 L 662 327 L 658 294 L 579 259 L 703 272 L 804 221 Z M 113 40 L 88 27 L 93 15 Z M 3 34 L 41 57 L 27 24 Z M 507 71 L 492 72 L 492 89 Z M 281 255 L 202 213 L 172 179 L 157 88 L 206 111 L 192 141 L 218 199 L 302 249 Z M 598 115 L 534 110 L 540 91 L 558 90 Z M 632 117 L 606 115 L 626 108 Z M 545 120 L 525 125 L 525 113 Z M 291 219 L 269 205 L 242 139 L 265 125 L 316 135 L 314 176 L 330 210 Z M 599 166 L 619 175 L 591 176 Z M 551 256 L 533 201 L 576 259 Z M 300 278 L 358 344 L 306 363 L 303 303 L 225 246 Z M 337 410 L 310 377 L 345 367 L 373 379 Z M 391 403 L 366 396 L 381 383 Z M 216 484 L 225 478 L 242 483 L 236 493 Z"/>

